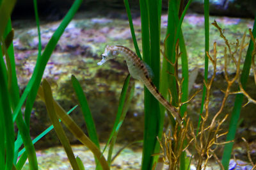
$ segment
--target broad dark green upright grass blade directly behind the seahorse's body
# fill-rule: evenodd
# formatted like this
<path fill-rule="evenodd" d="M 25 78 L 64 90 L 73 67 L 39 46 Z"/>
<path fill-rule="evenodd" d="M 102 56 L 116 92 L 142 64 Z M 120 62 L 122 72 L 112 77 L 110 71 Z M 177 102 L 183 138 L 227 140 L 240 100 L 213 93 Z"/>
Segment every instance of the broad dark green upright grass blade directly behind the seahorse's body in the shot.
<path fill-rule="evenodd" d="M 159 89 L 160 77 L 160 38 L 159 38 L 159 1 L 141 1 L 141 33 L 143 46 L 143 60 L 147 63 L 154 73 L 152 80 Z M 143 18 L 145 17 L 145 18 Z M 147 17 L 147 18 L 146 18 Z M 144 25 L 145 24 L 145 25 Z M 149 29 L 147 28 L 149 26 Z M 146 31 L 143 35 L 143 31 Z M 144 37 L 145 36 L 145 37 Z M 144 40 L 143 40 L 144 38 Z M 146 42 L 146 40 L 148 42 Z M 149 51 L 147 49 L 150 49 Z M 159 151 L 157 135 L 161 136 L 161 114 L 159 102 L 152 96 L 147 88 L 144 88 L 145 106 L 145 127 L 143 143 L 143 160 L 141 169 L 151 169 L 154 164 L 152 154 Z"/>

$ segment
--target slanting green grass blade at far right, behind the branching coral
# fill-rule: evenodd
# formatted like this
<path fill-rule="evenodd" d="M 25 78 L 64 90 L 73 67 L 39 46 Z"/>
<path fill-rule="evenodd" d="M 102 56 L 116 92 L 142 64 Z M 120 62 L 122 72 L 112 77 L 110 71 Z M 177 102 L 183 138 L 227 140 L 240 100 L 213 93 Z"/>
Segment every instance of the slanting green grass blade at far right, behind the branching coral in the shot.
<path fill-rule="evenodd" d="M 256 37 L 256 14 L 255 14 L 252 33 L 253 33 L 253 36 Z M 246 89 L 246 82 L 248 80 L 250 68 L 252 65 L 252 51 L 253 51 L 253 42 L 252 42 L 252 40 L 250 40 L 249 47 L 248 47 L 246 57 L 244 60 L 243 71 L 241 73 L 241 84 L 243 86 L 243 89 Z M 233 108 L 230 122 L 229 122 L 228 134 L 227 134 L 226 141 L 232 141 L 235 139 L 237 124 L 239 123 L 241 107 L 243 104 L 243 97 L 244 97 L 243 94 L 236 95 L 234 108 Z M 231 157 L 233 145 L 234 145 L 234 142 L 227 143 L 224 146 L 223 157 L 222 157 L 221 163 L 223 164 L 223 167 L 225 169 L 228 169 L 228 164 L 229 164 L 229 160 Z"/>

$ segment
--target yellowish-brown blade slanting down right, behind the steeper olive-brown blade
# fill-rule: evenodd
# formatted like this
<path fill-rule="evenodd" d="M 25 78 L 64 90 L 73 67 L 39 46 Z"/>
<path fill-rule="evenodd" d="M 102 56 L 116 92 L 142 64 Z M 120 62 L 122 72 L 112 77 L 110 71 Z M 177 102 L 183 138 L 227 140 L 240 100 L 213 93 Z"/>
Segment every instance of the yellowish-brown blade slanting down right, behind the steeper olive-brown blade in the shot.
<path fill-rule="evenodd" d="M 45 101 L 44 92 L 42 87 L 38 88 L 38 97 Z M 74 134 L 74 136 L 83 143 L 95 157 L 98 158 L 102 169 L 109 169 L 108 163 L 104 156 L 102 156 L 99 148 L 84 134 L 83 130 L 77 126 L 77 124 L 70 118 L 70 116 L 64 111 L 64 109 L 54 100 L 54 107 L 56 109 L 56 114 L 61 119 L 61 121 L 65 124 L 65 126 Z"/>

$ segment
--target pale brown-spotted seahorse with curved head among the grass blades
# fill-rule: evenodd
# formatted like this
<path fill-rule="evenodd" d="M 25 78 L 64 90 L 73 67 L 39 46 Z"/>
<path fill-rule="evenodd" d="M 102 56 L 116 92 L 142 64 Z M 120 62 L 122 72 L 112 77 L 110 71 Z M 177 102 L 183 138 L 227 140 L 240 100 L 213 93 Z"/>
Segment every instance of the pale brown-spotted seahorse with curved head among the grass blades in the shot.
<path fill-rule="evenodd" d="M 148 70 L 148 66 L 138 58 L 135 52 L 122 45 L 108 45 L 101 56 L 102 60 L 97 63 L 98 65 L 103 65 L 109 59 L 115 59 L 118 56 L 123 57 L 131 76 L 134 79 L 143 82 L 148 91 L 150 91 L 150 93 L 172 114 L 173 118 L 179 123 L 181 122 L 182 118 L 180 117 L 179 112 L 163 97 L 163 95 L 161 95 L 161 93 L 159 93 L 158 89 L 150 79 L 150 70 Z"/>

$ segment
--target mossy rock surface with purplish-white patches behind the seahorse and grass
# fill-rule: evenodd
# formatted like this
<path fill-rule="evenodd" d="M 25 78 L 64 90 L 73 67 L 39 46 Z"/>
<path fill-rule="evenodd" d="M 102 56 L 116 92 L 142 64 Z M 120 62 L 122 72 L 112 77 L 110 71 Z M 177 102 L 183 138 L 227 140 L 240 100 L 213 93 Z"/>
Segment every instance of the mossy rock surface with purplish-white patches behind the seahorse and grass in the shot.
<path fill-rule="evenodd" d="M 104 51 L 106 45 L 124 45 L 133 48 L 131 34 L 129 32 L 129 23 L 126 19 L 108 18 L 104 16 L 86 17 L 88 13 L 78 13 L 77 17 L 68 25 L 60 42 L 54 50 L 49 63 L 44 72 L 44 78 L 51 82 L 54 98 L 60 105 L 68 111 L 74 105 L 78 104 L 76 95 L 70 81 L 71 75 L 75 75 L 81 83 L 88 104 L 95 120 L 97 132 L 101 142 L 106 142 L 109 132 L 113 127 L 118 107 L 118 99 L 124 84 L 124 79 L 128 74 L 125 63 L 120 61 L 108 61 L 103 66 L 98 66 L 100 54 Z M 210 22 L 217 20 L 222 28 L 225 28 L 225 35 L 230 42 L 241 40 L 244 31 L 248 27 L 252 27 L 253 21 L 250 19 L 230 19 L 227 17 L 211 17 Z M 162 17 L 161 43 L 164 42 L 166 31 L 167 15 Z M 27 22 L 27 21 L 26 21 Z M 17 63 L 17 75 L 19 77 L 19 86 L 24 89 L 29 81 L 29 77 L 33 73 L 37 56 L 37 33 L 34 26 L 22 26 L 22 21 L 14 23 L 15 27 L 15 59 Z M 138 44 L 141 44 L 140 35 L 140 18 L 133 20 L 134 29 Z M 49 38 L 54 33 L 60 22 L 52 22 L 42 24 L 42 46 L 45 47 Z M 197 71 L 195 82 L 193 82 L 191 94 L 198 88 L 202 88 L 204 74 L 204 16 L 187 15 L 182 24 L 186 47 L 188 51 L 189 70 Z M 246 32 L 246 41 L 249 40 L 248 32 Z M 218 74 L 214 87 L 212 88 L 212 102 L 210 105 L 211 116 L 214 116 L 220 107 L 220 101 L 223 93 L 220 89 L 225 86 L 223 77 L 223 50 L 225 42 L 221 40 L 218 30 L 214 26 L 210 26 L 210 49 L 213 42 L 217 42 L 218 48 Z M 163 48 L 163 47 L 162 47 Z M 141 49 L 141 46 L 140 46 Z M 211 51 L 212 54 L 212 51 Z M 212 66 L 209 66 L 209 76 L 212 75 Z M 230 66 L 228 72 L 234 73 L 236 69 Z M 118 143 L 128 143 L 131 141 L 143 139 L 143 84 L 138 81 L 135 83 L 135 93 L 132 99 L 131 107 L 127 113 L 127 118 L 118 135 Z M 236 90 L 236 88 L 234 88 Z M 248 93 L 256 98 L 255 84 L 250 77 L 248 82 Z M 196 124 L 198 120 L 198 112 L 200 111 L 200 94 L 188 105 L 188 114 Z M 227 106 L 224 114 L 230 114 L 234 105 L 234 96 L 228 98 Z M 243 122 L 241 127 L 245 128 L 243 133 L 250 134 L 250 129 L 254 129 L 252 122 L 255 113 L 255 105 L 250 104 L 241 111 Z M 79 127 L 86 132 L 83 114 L 77 108 L 70 114 Z M 250 115 L 251 117 L 249 118 Z M 42 101 L 36 100 L 31 115 L 31 136 L 36 137 L 40 132 L 49 127 L 50 122 L 47 118 L 47 112 Z M 226 125 L 227 126 L 227 125 Z M 250 127 L 250 128 L 247 128 Z M 55 132 L 47 134 L 44 139 L 35 144 L 37 148 L 49 147 L 59 144 Z M 73 135 L 68 134 L 71 143 L 77 143 Z M 240 136 L 239 136 L 240 137 Z M 250 136 L 249 136 L 250 137 Z M 255 139 L 253 137 L 253 139 Z M 253 140 L 252 139 L 252 140 Z"/>

